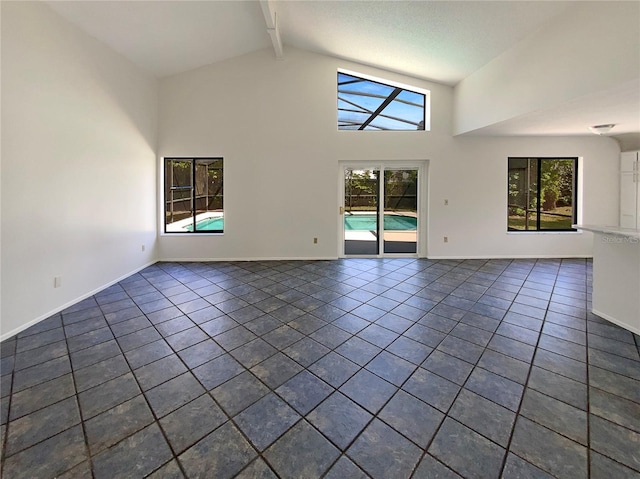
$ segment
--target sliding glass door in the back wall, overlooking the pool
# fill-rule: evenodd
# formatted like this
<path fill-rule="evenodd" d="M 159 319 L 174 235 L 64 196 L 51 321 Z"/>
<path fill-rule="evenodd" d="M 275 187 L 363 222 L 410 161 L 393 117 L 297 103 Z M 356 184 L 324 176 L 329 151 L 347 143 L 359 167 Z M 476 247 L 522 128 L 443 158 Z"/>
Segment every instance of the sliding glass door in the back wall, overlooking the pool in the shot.
<path fill-rule="evenodd" d="M 418 252 L 418 168 L 343 170 L 345 256 Z"/>

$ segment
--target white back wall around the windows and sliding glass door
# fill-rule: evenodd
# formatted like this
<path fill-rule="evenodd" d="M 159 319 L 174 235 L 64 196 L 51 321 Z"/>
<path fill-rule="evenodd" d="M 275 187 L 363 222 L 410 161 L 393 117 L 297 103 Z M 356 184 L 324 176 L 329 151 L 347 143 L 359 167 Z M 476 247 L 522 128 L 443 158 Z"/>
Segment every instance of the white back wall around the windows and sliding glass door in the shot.
<path fill-rule="evenodd" d="M 285 56 L 263 50 L 161 81 L 159 155 L 225 159 L 225 234 L 160 236 L 161 259 L 335 258 L 340 161 L 429 161 L 430 257 L 591 254 L 588 233 L 506 233 L 509 156 L 582 157 L 582 220 L 617 221 L 619 147 L 609 138 L 453 138 L 449 87 L 291 48 Z M 338 68 L 431 90 L 432 130 L 338 132 Z"/>

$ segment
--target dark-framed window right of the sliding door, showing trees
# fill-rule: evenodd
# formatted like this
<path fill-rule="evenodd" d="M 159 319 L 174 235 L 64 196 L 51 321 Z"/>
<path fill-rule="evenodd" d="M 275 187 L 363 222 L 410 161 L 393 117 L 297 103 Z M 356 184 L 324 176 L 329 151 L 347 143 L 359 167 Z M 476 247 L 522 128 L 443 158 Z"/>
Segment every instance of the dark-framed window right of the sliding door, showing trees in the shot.
<path fill-rule="evenodd" d="M 577 158 L 509 158 L 508 231 L 575 231 Z"/>

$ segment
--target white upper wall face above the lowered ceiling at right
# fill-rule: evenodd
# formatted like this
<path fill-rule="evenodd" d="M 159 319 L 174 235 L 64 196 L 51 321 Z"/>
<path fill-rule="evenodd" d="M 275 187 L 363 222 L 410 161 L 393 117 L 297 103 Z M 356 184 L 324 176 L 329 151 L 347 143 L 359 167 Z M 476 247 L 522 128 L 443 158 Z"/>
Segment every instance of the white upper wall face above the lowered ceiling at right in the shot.
<path fill-rule="evenodd" d="M 456 85 L 454 133 L 637 82 L 639 17 L 639 2 L 577 2 Z"/>

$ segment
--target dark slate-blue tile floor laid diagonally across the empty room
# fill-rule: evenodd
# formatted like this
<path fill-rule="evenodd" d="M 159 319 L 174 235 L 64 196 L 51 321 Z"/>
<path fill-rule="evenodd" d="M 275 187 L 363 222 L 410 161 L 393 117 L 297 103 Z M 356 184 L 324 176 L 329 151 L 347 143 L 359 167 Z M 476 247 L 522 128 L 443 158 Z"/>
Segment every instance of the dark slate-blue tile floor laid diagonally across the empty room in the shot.
<path fill-rule="evenodd" d="M 1 344 L 6 478 L 639 478 L 586 260 L 158 263 Z"/>

